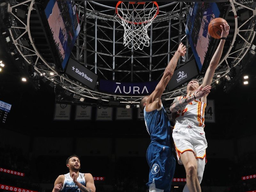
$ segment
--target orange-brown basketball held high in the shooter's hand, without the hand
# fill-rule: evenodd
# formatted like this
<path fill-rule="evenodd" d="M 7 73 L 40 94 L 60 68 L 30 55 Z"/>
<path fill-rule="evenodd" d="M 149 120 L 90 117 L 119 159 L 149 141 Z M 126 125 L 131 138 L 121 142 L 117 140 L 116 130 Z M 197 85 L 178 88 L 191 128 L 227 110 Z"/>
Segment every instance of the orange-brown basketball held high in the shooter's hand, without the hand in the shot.
<path fill-rule="evenodd" d="M 222 18 L 215 18 L 211 20 L 211 22 L 208 25 L 208 32 L 210 36 L 212 36 L 215 39 L 220 39 L 221 32 L 222 32 L 220 26 L 222 25 L 222 27 L 224 28 L 223 26 L 224 23 L 228 23 L 228 22 Z"/>

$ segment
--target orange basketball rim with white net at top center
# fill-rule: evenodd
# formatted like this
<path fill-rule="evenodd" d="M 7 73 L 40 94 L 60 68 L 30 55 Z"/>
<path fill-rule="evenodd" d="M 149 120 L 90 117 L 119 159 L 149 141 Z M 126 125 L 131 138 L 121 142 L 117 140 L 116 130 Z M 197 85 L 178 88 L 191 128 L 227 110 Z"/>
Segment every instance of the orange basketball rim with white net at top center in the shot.
<path fill-rule="evenodd" d="M 148 47 L 150 38 L 147 29 L 158 13 L 156 1 L 129 2 L 128 5 L 118 1 L 115 18 L 124 27 L 124 46 L 134 47 L 135 50 Z"/>

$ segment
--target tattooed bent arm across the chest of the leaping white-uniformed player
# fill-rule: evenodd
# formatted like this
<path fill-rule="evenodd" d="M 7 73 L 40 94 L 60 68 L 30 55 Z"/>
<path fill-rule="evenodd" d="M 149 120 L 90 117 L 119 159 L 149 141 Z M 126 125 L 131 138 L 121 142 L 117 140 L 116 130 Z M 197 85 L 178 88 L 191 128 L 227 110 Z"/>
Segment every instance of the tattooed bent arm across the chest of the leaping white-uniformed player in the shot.
<path fill-rule="evenodd" d="M 211 90 L 210 85 L 206 85 L 204 88 L 202 88 L 202 85 L 200 85 L 198 87 L 198 89 L 196 90 L 195 94 L 190 95 L 189 97 L 184 98 L 182 100 L 179 100 L 178 97 L 176 97 L 173 100 L 173 103 L 171 104 L 170 111 L 172 113 L 174 113 L 174 112 L 184 108 L 191 101 L 193 101 L 195 99 L 201 99 L 202 97 L 204 97 L 204 95 L 208 94 L 210 92 L 210 90 Z"/>

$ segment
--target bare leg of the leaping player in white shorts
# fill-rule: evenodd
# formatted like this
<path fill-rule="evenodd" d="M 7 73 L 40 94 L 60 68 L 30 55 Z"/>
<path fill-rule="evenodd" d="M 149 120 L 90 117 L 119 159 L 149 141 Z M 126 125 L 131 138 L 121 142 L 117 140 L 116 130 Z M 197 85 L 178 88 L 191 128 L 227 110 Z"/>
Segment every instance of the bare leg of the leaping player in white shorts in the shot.
<path fill-rule="evenodd" d="M 192 151 L 180 154 L 180 159 L 186 170 L 187 187 L 189 192 L 201 192 L 200 183 L 197 178 L 197 161 Z"/>

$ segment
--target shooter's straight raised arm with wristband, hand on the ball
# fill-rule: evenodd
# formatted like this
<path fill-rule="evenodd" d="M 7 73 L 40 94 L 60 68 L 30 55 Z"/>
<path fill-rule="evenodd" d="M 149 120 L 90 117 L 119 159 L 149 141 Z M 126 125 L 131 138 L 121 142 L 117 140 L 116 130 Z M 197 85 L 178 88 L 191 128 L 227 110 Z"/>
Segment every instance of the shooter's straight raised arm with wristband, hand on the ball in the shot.
<path fill-rule="evenodd" d="M 222 26 L 220 26 L 221 29 L 222 29 L 221 38 L 226 38 L 228 36 L 228 32 L 229 32 L 229 25 L 227 23 L 224 23 L 223 25 L 224 25 L 224 28 Z M 217 47 L 217 49 L 216 49 L 216 51 L 215 51 L 215 53 L 212 57 L 210 65 L 206 70 L 206 73 L 205 73 L 205 76 L 204 76 L 204 81 L 203 81 L 203 84 L 202 84 L 203 87 L 205 87 L 206 85 L 211 85 L 211 83 L 212 83 L 212 78 L 213 78 L 213 75 L 214 75 L 214 71 L 215 71 L 217 65 L 220 62 L 220 57 L 222 55 L 224 44 L 225 44 L 225 39 L 221 39 L 220 44 Z"/>

